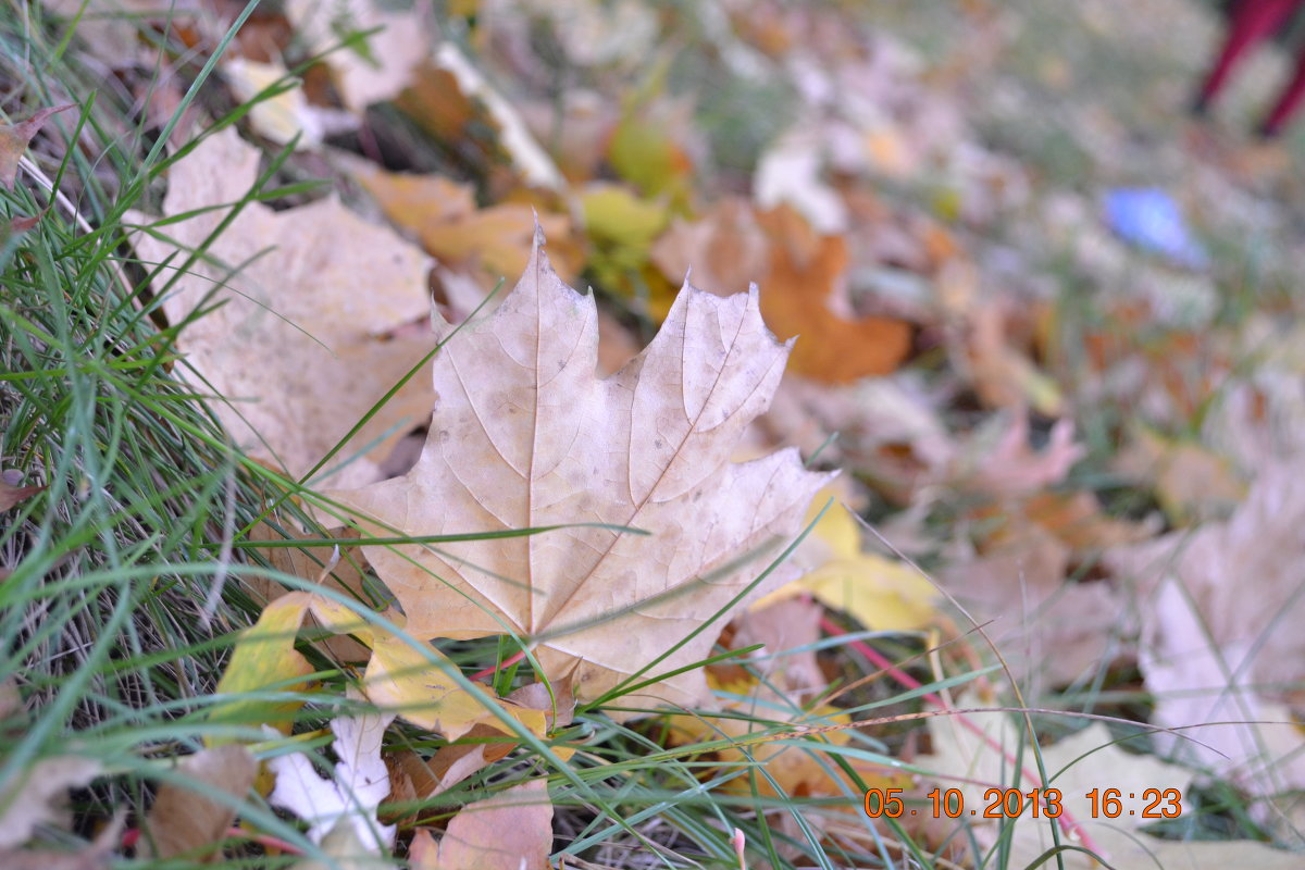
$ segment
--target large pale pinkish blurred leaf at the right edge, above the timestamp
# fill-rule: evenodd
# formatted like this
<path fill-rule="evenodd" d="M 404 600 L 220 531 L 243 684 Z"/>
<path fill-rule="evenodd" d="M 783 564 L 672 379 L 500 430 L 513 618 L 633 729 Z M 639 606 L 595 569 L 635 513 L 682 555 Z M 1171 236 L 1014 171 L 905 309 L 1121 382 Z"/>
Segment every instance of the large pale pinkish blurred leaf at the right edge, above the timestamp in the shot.
<path fill-rule="evenodd" d="M 1305 730 L 1287 715 L 1305 706 L 1301 471 L 1267 463 L 1228 520 L 1107 553 L 1142 612 L 1155 721 L 1203 743 L 1182 742 L 1184 757 L 1257 794 L 1305 788 Z"/>

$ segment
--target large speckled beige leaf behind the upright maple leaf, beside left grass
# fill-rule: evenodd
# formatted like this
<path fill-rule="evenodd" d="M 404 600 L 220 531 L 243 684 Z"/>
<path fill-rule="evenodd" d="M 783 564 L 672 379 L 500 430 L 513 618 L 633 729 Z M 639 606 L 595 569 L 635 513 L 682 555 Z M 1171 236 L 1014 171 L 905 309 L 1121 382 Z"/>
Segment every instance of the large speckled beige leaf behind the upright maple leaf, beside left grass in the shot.
<path fill-rule="evenodd" d="M 214 206 L 247 196 L 257 171 L 258 151 L 232 129 L 210 136 L 172 167 L 163 214 L 210 210 L 159 227 L 174 241 L 136 237 L 146 263 L 174 257 L 157 290 L 227 217 L 228 209 Z M 141 214 L 128 219 L 151 222 Z M 251 202 L 207 252 L 172 286 L 163 310 L 183 323 L 198 308 L 223 303 L 187 323 L 179 344 L 194 377 L 226 399 L 214 410 L 236 442 L 295 477 L 435 346 L 427 337 L 390 337 L 429 312 L 425 257 L 334 197 L 286 211 Z M 380 459 L 405 424 L 422 423 L 433 404 L 427 377 L 410 380 L 337 460 L 373 441 L 368 457 Z M 371 459 L 330 477 L 346 485 L 375 479 Z"/>

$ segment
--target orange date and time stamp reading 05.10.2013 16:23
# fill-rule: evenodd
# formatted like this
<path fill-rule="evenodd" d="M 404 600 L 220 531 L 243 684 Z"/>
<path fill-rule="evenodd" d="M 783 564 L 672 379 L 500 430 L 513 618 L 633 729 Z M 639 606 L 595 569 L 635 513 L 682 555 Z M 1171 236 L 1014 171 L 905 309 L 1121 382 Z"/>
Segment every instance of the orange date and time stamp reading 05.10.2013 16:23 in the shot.
<path fill-rule="evenodd" d="M 898 819 L 910 815 L 932 815 L 936 819 L 959 819 L 962 815 L 974 815 L 985 819 L 1013 819 L 1023 815 L 1026 807 L 1032 811 L 1032 817 L 1054 819 L 1065 807 L 1064 794 L 1056 788 L 1035 788 L 1022 792 L 1018 788 L 990 788 L 984 792 L 984 806 L 966 811 L 964 794 L 960 789 L 940 789 L 937 787 L 924 796 L 929 801 L 928 809 L 908 807 L 902 800 L 899 788 L 872 788 L 865 792 L 865 815 L 872 819 L 890 818 Z M 1129 807 L 1126 800 L 1135 800 L 1138 794 L 1129 792 L 1126 796 L 1117 788 L 1098 789 L 1083 796 L 1088 803 L 1091 818 L 1117 819 L 1121 815 L 1141 817 L 1143 819 L 1172 819 L 1182 813 L 1182 794 L 1176 788 L 1143 789 L 1141 809 Z"/>

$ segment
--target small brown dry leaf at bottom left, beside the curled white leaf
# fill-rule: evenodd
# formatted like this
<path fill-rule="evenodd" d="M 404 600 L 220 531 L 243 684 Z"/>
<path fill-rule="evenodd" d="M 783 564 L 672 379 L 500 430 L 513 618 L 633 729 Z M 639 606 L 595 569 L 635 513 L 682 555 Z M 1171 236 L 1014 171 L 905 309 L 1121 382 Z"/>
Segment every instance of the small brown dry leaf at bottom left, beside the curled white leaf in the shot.
<path fill-rule="evenodd" d="M 219 860 L 221 850 L 214 847 L 224 839 L 236 811 L 205 792 L 244 797 L 258 775 L 258 762 L 244 746 L 228 743 L 187 755 L 177 770 L 189 781 L 159 787 L 145 820 L 141 850 L 147 857 L 175 858 L 209 847 L 213 853 L 205 862 Z"/>

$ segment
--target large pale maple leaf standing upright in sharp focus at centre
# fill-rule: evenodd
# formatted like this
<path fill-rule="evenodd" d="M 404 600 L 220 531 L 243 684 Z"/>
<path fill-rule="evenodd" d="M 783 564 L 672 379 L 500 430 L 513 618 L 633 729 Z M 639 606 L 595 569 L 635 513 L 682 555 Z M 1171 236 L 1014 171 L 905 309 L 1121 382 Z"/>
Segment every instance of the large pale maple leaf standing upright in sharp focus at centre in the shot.
<path fill-rule="evenodd" d="M 514 633 L 583 702 L 710 655 L 714 627 L 643 672 L 761 574 L 829 475 L 805 471 L 796 450 L 729 460 L 790 351 L 762 323 L 756 290 L 720 297 L 686 283 L 652 343 L 599 380 L 594 299 L 562 283 L 542 241 L 502 305 L 436 356 L 438 404 L 420 462 L 335 497 L 378 536 L 589 523 L 367 548 L 415 637 Z M 693 669 L 617 704 L 705 695 Z"/>

